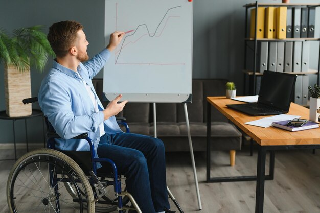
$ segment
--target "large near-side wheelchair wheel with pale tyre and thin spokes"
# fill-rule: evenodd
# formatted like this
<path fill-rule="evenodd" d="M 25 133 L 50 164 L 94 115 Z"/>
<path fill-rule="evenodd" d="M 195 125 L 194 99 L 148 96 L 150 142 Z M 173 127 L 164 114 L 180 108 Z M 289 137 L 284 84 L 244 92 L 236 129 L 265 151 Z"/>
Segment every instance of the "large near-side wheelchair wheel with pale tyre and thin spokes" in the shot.
<path fill-rule="evenodd" d="M 64 182 L 73 183 L 77 197 Z M 95 212 L 92 188 L 79 165 L 52 149 L 34 150 L 17 160 L 7 182 L 7 202 L 11 213 Z"/>

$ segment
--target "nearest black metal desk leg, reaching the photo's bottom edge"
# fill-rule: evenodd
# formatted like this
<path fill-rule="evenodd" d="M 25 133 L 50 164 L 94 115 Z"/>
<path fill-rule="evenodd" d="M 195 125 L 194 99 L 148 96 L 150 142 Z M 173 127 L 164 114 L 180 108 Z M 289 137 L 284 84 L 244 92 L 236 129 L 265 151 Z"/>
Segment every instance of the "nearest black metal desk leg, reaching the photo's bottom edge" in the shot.
<path fill-rule="evenodd" d="M 265 161 L 266 147 L 259 145 L 257 163 L 256 213 L 263 213 Z"/>

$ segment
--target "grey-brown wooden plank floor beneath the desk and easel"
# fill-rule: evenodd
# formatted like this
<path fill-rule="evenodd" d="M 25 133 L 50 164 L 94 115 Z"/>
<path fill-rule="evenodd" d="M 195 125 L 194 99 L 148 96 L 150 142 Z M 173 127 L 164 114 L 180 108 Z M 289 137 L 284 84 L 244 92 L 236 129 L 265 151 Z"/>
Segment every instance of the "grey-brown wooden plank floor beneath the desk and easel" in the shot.
<path fill-rule="evenodd" d="M 11 152 L 12 154 L 12 152 Z M 2 158 L 10 152 L 0 150 Z M 253 175 L 257 152 L 248 147 L 236 154 L 235 167 L 228 166 L 228 152 L 212 152 L 211 176 Z M 184 211 L 202 213 L 255 212 L 255 181 L 206 183 L 205 153 L 195 153 L 202 210 L 198 211 L 190 153 L 167 153 L 167 184 Z M 268 156 L 267 156 L 268 158 Z M 5 190 L 13 161 L 0 161 L 0 212 L 8 212 Z M 267 166 L 268 171 L 268 166 Z M 171 203 L 172 210 L 177 210 Z M 277 151 L 275 179 L 265 183 L 264 212 L 320 212 L 320 150 Z"/>

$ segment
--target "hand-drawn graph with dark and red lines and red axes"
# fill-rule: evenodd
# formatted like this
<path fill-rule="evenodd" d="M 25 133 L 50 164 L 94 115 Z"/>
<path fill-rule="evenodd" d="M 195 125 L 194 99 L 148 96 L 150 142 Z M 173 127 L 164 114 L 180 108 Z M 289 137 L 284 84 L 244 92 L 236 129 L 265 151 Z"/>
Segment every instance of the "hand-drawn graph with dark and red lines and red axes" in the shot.
<path fill-rule="evenodd" d="M 157 26 L 157 28 L 156 28 L 156 30 L 154 31 L 153 34 L 150 34 L 149 29 L 148 29 L 148 27 L 147 27 L 146 24 L 142 24 L 142 25 L 139 25 L 138 27 L 135 28 L 135 31 L 134 31 L 133 34 L 130 34 L 130 35 L 125 36 L 125 37 L 123 38 L 123 43 L 122 43 L 122 45 L 121 45 L 120 50 L 117 50 L 117 49 L 115 50 L 115 64 L 119 64 L 119 65 L 185 65 L 185 63 L 155 63 L 155 62 L 119 63 L 119 62 L 118 62 L 118 58 L 119 58 L 119 56 L 120 56 L 120 54 L 121 54 L 121 51 L 122 51 L 128 44 L 134 44 L 134 43 L 136 43 L 137 41 L 139 41 L 141 38 L 143 38 L 143 37 L 145 37 L 145 36 L 149 36 L 149 37 L 160 37 L 160 36 L 162 35 L 164 29 L 165 29 L 166 26 L 167 26 L 168 20 L 169 20 L 170 18 L 179 18 L 180 16 L 173 16 L 173 15 L 168 16 L 167 19 L 166 19 L 166 22 L 165 22 L 165 24 L 164 24 L 164 26 L 163 26 L 163 28 L 162 28 L 161 31 L 160 31 L 160 33 L 159 33 L 158 35 L 155 35 L 156 32 L 157 32 L 157 30 L 158 30 L 158 27 L 159 27 L 159 26 L 161 25 L 161 23 L 163 22 L 163 19 L 166 17 L 166 15 L 167 15 L 167 13 L 169 12 L 169 10 L 172 10 L 172 9 L 175 9 L 175 8 L 178 8 L 178 7 L 181 7 L 181 6 L 169 8 L 169 9 L 167 10 L 166 14 L 164 15 L 164 17 L 163 17 L 162 20 L 160 21 L 159 25 Z M 118 19 L 118 3 L 116 3 L 116 29 L 117 29 L 117 22 L 118 22 L 117 19 Z M 129 36 L 133 36 L 133 35 L 138 31 L 138 28 L 139 28 L 139 27 L 142 27 L 142 26 L 144 26 L 144 27 L 147 29 L 148 33 L 146 33 L 146 34 L 144 34 L 144 35 L 141 35 L 138 39 L 136 39 L 136 40 L 134 40 L 134 41 L 129 41 L 129 42 L 125 43 L 126 38 L 129 37 Z M 117 54 L 118 54 L 118 55 L 117 55 Z"/>

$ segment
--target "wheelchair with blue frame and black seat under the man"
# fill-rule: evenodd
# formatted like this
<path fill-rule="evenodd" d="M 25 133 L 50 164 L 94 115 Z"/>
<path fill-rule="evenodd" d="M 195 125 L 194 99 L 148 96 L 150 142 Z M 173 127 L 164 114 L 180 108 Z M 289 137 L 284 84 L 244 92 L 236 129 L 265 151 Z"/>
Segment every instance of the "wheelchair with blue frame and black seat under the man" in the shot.
<path fill-rule="evenodd" d="M 24 99 L 24 104 L 38 101 Z M 138 204 L 126 192 L 125 177 L 118 174 L 115 163 L 97 158 L 87 133 L 75 138 L 85 139 L 90 151 L 55 150 L 60 138 L 44 117 L 47 126 L 47 148 L 36 149 L 21 156 L 13 165 L 7 181 L 7 202 L 10 212 L 127 212 L 141 213 Z M 129 132 L 125 119 L 117 119 Z M 106 162 L 103 172 L 97 162 Z M 112 187 L 113 186 L 113 187 Z M 168 196 L 180 213 L 184 211 L 167 186 Z M 131 203 L 131 205 L 129 204 Z"/>

